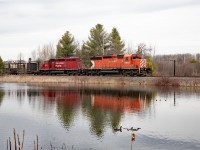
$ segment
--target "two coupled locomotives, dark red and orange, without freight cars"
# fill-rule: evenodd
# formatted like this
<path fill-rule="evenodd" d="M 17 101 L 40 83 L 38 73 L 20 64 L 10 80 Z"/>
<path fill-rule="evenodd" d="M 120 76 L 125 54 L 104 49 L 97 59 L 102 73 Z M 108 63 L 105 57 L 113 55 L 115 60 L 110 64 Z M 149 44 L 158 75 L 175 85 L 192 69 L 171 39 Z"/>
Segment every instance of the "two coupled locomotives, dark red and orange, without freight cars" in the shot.
<path fill-rule="evenodd" d="M 119 74 L 123 76 L 146 76 L 151 74 L 151 68 L 146 66 L 146 59 L 141 59 L 138 54 L 92 56 L 90 60 L 91 67 L 84 68 L 79 57 L 49 59 L 42 64 L 39 73 L 51 75 Z"/>

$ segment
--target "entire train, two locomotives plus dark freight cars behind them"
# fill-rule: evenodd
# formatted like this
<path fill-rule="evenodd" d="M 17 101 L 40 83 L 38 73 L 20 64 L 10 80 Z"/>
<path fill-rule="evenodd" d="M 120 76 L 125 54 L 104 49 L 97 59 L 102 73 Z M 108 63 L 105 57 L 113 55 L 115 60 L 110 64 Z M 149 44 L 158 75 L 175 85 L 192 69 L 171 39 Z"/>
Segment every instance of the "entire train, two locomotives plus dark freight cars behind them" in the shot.
<path fill-rule="evenodd" d="M 18 62 L 15 65 L 7 63 L 5 70 L 10 74 L 39 75 L 151 75 L 151 68 L 147 67 L 146 59 L 142 59 L 138 54 L 91 56 L 90 67 L 85 67 L 80 57 L 53 58 L 44 61 L 41 65 L 29 59 L 28 63 Z"/>

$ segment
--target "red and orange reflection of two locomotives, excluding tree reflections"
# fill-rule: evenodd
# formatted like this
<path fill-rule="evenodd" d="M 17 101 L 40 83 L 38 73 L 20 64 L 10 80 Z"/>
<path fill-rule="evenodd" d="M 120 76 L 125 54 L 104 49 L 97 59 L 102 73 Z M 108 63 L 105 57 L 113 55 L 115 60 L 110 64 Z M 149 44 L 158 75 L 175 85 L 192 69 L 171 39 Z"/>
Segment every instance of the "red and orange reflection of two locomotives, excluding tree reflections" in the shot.
<path fill-rule="evenodd" d="M 80 103 L 84 95 L 89 95 L 87 100 L 95 109 L 111 111 L 140 111 L 148 105 L 150 93 L 141 91 L 117 91 L 117 90 L 91 90 L 91 89 L 43 89 L 42 96 L 45 101 L 56 100 L 65 106 L 75 106 Z"/>

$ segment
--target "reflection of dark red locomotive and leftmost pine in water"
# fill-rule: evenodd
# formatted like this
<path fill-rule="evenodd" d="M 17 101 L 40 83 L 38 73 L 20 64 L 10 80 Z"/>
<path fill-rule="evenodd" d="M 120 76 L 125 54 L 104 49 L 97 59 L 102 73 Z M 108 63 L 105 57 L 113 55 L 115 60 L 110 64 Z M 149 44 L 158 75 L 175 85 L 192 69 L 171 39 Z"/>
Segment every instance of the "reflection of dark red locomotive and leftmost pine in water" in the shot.
<path fill-rule="evenodd" d="M 77 107 L 81 101 L 80 93 L 74 89 L 44 88 L 42 95 L 45 101 L 55 101 L 56 110 L 64 128 L 69 129 L 74 120 Z"/>

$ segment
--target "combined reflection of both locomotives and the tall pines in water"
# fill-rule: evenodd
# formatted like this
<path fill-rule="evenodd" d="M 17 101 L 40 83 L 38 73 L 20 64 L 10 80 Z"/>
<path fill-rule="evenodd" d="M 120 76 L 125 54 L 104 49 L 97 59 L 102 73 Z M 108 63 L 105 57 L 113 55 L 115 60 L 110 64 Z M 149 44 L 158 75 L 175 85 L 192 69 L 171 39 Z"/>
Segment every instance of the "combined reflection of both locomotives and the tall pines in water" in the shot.
<path fill-rule="evenodd" d="M 56 103 L 57 114 L 61 124 L 69 130 L 75 114 L 82 108 L 82 113 L 90 121 L 90 131 L 99 137 L 103 136 L 106 127 L 117 128 L 125 112 L 138 113 L 145 111 L 153 98 L 152 92 L 118 91 L 94 89 L 60 89 L 44 88 L 40 92 L 28 90 L 30 99 L 40 95 L 44 99 L 43 108 Z"/>

